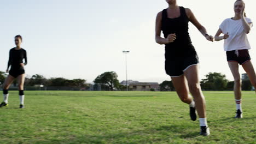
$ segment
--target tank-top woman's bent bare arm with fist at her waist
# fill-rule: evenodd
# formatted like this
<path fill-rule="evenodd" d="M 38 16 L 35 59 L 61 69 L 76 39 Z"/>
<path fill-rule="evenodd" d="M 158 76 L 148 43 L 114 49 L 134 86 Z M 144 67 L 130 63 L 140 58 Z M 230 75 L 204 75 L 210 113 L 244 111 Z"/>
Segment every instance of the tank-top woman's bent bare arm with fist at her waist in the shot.
<path fill-rule="evenodd" d="M 155 41 L 156 43 L 162 45 L 162 44 L 168 44 L 172 43 L 176 39 L 176 34 L 169 34 L 168 37 L 162 38 L 161 37 L 161 25 L 162 25 L 162 11 L 158 13 L 156 16 L 155 21 Z"/>

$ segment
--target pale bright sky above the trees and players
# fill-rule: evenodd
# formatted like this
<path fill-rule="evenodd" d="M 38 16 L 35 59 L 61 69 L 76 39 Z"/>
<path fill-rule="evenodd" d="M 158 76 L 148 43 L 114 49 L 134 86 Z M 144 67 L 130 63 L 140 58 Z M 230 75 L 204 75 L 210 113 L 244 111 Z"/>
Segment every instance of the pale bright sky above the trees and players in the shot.
<path fill-rule="evenodd" d="M 177 0 L 190 8 L 197 20 L 215 35 L 220 23 L 234 16 L 234 1 Z M 256 20 L 254 0 L 245 0 L 247 17 Z M 22 35 L 27 51 L 27 77 L 85 79 L 92 82 L 105 71 L 115 71 L 119 81 L 127 77 L 141 82 L 170 80 L 164 68 L 164 45 L 155 43 L 155 18 L 167 8 L 165 0 L 10 0 L 0 5 L 0 71 L 7 69 L 14 36 Z M 189 23 L 192 43 L 199 55 L 200 79 L 210 72 L 232 74 L 223 50 L 224 41 L 207 41 Z M 256 29 L 248 34 L 249 53 L 256 67 Z M 240 67 L 240 73 L 245 71 Z"/>

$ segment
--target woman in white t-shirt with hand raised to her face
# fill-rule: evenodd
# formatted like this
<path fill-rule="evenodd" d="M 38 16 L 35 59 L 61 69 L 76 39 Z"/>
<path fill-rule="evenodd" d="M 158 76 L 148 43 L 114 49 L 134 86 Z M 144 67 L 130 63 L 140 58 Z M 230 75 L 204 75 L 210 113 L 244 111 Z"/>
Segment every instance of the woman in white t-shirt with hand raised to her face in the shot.
<path fill-rule="evenodd" d="M 238 64 L 242 65 L 246 71 L 252 85 L 256 89 L 256 75 L 251 63 L 251 57 L 248 50 L 251 49 L 247 34 L 251 30 L 253 23 L 246 17 L 245 2 L 237 0 L 234 4 L 235 16 L 225 19 L 219 26 L 215 35 L 215 40 L 224 39 L 224 50 L 228 60 L 229 68 L 234 76 L 234 93 L 236 101 L 236 116 L 242 118 L 241 107 L 241 79 L 238 71 Z M 223 36 L 219 36 L 223 33 Z"/>

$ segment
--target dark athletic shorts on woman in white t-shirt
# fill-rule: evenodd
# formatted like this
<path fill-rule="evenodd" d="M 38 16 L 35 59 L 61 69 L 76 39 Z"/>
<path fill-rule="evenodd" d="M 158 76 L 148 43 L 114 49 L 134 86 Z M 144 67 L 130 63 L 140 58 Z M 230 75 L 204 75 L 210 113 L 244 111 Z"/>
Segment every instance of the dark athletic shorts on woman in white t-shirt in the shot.
<path fill-rule="evenodd" d="M 245 49 L 245 50 L 226 51 L 226 59 L 228 62 L 237 62 L 240 65 L 242 65 L 250 61 L 251 57 L 249 55 L 249 51 Z"/>

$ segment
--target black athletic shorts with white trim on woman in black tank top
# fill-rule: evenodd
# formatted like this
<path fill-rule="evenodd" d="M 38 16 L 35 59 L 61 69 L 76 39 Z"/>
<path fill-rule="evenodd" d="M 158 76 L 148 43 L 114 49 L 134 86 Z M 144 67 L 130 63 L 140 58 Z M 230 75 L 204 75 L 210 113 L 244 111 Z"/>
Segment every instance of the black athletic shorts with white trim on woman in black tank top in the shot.
<path fill-rule="evenodd" d="M 194 46 L 188 45 L 188 51 L 183 56 L 170 56 L 165 53 L 165 72 L 171 77 L 181 76 L 190 66 L 199 63 Z"/>

